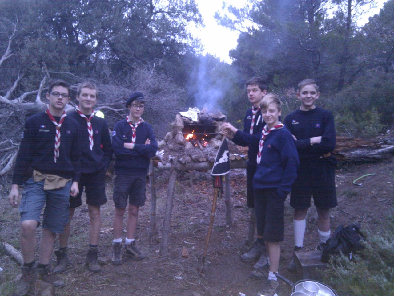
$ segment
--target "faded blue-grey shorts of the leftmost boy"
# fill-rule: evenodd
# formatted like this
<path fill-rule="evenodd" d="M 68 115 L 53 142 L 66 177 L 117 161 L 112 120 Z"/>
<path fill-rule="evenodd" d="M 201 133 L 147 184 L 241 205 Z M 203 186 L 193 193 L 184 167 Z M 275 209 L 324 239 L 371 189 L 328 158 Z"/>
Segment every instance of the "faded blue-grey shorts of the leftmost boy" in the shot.
<path fill-rule="evenodd" d="M 72 181 L 60 189 L 44 190 L 44 180 L 34 182 L 30 178 L 25 183 L 20 201 L 20 221 L 34 220 L 40 224 L 43 214 L 43 228 L 52 232 L 63 233 L 64 226 L 69 222 L 69 200 Z"/>

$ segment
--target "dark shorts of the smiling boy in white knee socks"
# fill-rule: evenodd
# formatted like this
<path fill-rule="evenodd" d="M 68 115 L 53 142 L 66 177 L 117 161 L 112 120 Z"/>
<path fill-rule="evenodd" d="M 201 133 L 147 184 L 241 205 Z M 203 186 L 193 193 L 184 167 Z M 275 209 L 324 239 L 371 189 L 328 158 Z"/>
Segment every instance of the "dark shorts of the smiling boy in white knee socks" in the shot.
<path fill-rule="evenodd" d="M 337 205 L 335 165 L 324 157 L 300 159 L 297 178 L 290 193 L 290 206 L 309 208 L 311 195 L 316 208 L 330 209 Z"/>

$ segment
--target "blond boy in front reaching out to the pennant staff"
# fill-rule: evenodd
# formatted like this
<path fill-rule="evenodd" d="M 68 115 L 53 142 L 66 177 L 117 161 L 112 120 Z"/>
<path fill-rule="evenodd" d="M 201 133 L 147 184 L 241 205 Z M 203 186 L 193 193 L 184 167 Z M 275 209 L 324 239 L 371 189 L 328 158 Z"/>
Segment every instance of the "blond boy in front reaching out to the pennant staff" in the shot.
<path fill-rule="evenodd" d="M 257 170 L 253 177 L 256 224 L 262 228 L 269 257 L 268 281 L 263 292 L 273 296 L 278 288 L 281 248 L 284 239 L 284 200 L 296 179 L 299 160 L 291 133 L 279 121 L 282 102 L 273 94 L 266 95 L 261 103 L 261 112 L 266 122 L 260 135 L 250 135 L 237 130 L 231 124 L 225 127 L 235 133 L 234 138 L 258 142 Z"/>

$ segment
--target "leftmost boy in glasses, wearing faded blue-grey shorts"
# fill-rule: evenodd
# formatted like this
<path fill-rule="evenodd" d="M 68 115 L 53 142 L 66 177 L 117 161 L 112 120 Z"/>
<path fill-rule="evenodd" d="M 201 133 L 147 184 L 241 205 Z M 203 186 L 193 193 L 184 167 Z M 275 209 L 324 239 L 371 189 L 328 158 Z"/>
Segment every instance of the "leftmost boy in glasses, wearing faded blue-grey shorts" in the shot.
<path fill-rule="evenodd" d="M 20 143 L 9 202 L 18 205 L 18 188 L 22 185 L 28 167 L 32 177 L 26 181 L 20 211 L 20 247 L 24 264 L 22 277 L 15 286 L 15 296 L 35 293 L 37 273 L 42 281 L 55 287 L 64 282 L 49 274 L 56 233 L 62 233 L 69 220 L 70 194 L 78 194 L 81 170 L 79 125 L 67 116 L 64 108 L 69 102 L 70 86 L 56 80 L 48 88 L 48 108 L 26 120 Z M 38 265 L 35 264 L 35 232 L 43 214 L 43 230 L 40 240 Z"/>

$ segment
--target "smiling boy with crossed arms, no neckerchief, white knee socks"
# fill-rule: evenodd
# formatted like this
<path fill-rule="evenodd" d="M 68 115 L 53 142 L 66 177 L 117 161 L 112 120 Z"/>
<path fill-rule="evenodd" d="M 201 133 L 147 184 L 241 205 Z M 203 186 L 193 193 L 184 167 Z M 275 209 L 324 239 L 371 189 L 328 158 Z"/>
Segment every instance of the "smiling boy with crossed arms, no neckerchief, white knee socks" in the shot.
<path fill-rule="evenodd" d="M 320 243 L 329 239 L 330 208 L 337 205 L 335 191 L 334 117 L 330 111 L 316 107 L 319 88 L 312 79 L 298 84 L 297 98 L 301 107 L 284 120 L 286 128 L 296 140 L 300 159 L 297 179 L 292 185 L 290 206 L 294 208 L 294 250 L 303 247 L 306 228 L 305 217 L 310 207 L 310 196 L 318 212 L 318 234 Z M 294 260 L 289 270 L 296 270 Z"/>

